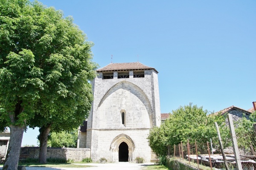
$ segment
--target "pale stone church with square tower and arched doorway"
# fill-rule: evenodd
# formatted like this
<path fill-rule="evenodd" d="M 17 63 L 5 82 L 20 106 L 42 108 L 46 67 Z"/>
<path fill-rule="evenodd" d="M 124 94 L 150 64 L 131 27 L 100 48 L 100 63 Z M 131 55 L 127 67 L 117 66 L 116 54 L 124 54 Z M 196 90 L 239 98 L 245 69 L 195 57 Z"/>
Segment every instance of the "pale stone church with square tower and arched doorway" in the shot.
<path fill-rule="evenodd" d="M 111 62 L 96 71 L 94 100 L 79 129 L 78 147 L 90 148 L 93 161 L 154 160 L 147 137 L 161 124 L 157 70 L 140 62 Z"/>

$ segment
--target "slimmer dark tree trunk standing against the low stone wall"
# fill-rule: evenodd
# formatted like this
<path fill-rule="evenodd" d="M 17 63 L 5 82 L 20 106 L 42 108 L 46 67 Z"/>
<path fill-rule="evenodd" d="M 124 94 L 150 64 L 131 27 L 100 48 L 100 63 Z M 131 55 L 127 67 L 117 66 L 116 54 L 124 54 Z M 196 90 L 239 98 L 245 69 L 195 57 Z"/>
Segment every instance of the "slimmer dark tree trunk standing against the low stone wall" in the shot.
<path fill-rule="evenodd" d="M 39 149 L 39 162 L 41 164 L 47 163 L 47 141 L 48 135 L 50 133 L 51 124 L 47 126 L 40 127 L 39 129 L 39 141 L 40 141 L 40 149 Z"/>

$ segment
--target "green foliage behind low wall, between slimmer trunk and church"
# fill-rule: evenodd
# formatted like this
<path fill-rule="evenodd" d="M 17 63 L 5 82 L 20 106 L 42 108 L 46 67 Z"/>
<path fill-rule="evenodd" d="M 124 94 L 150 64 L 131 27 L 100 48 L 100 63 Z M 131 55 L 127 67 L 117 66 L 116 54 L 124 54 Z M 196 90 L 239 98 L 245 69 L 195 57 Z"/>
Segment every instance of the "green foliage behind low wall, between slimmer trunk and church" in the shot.
<path fill-rule="evenodd" d="M 52 132 L 48 138 L 49 147 L 77 147 L 77 128 L 71 131 Z"/>

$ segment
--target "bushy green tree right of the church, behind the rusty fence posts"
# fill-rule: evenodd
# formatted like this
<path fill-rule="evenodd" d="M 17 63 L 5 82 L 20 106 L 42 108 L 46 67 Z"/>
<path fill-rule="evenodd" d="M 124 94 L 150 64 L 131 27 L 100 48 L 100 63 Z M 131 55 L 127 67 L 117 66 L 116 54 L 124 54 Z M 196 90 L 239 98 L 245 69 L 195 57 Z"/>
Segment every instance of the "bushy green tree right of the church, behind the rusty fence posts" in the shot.
<path fill-rule="evenodd" d="M 207 142 L 209 139 L 217 140 L 217 132 L 214 122 L 217 122 L 227 134 L 227 127 L 224 125 L 225 118 L 220 115 L 208 115 L 208 111 L 204 111 L 203 107 L 197 105 L 180 106 L 175 111 L 172 111 L 169 119 L 167 119 L 160 127 L 152 129 L 148 136 L 148 142 L 151 149 L 157 156 L 166 156 L 171 152 L 170 146 L 187 142 L 187 139 Z"/>

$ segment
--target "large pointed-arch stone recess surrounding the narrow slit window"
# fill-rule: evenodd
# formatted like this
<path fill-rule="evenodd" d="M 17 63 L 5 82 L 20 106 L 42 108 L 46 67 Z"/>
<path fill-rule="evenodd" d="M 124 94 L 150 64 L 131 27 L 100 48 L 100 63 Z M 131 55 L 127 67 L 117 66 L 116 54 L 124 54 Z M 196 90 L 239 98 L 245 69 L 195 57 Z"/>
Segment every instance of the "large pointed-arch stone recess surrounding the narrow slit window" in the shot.
<path fill-rule="evenodd" d="M 121 81 L 113 85 L 102 97 L 96 109 L 100 128 L 124 128 L 119 111 L 125 110 L 125 115 L 133 116 L 126 121 L 125 127 L 132 127 L 134 122 L 142 128 L 153 127 L 153 109 L 146 94 L 137 86 L 128 81 Z M 117 115 L 118 113 L 118 115 Z M 121 113 L 122 114 L 122 113 Z M 113 117 L 113 124 L 108 117 Z M 115 127 L 114 127 L 115 126 Z"/>

